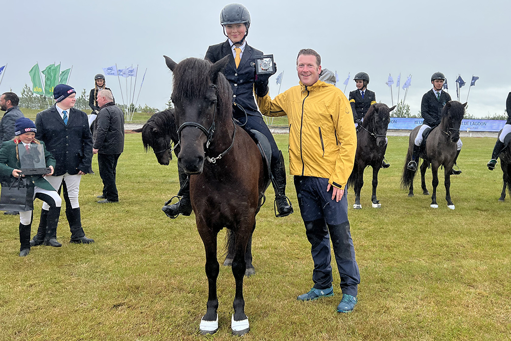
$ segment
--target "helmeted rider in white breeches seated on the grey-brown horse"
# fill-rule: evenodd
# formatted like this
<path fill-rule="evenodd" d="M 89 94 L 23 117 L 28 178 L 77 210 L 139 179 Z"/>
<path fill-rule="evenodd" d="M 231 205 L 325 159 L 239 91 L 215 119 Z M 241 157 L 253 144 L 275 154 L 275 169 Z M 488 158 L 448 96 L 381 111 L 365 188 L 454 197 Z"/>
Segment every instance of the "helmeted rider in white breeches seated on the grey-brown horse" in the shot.
<path fill-rule="evenodd" d="M 433 88 L 429 90 L 424 96 L 422 97 L 422 103 L 421 103 L 421 115 L 424 119 L 423 125 L 419 129 L 419 132 L 417 133 L 417 137 L 415 138 L 414 145 L 413 145 L 413 151 L 412 151 L 412 160 L 408 163 L 407 167 L 411 171 L 415 171 L 417 169 L 417 162 L 419 161 L 419 153 L 421 151 L 421 144 L 423 141 L 423 133 L 424 130 L 427 128 L 434 128 L 437 125 L 440 124 L 440 121 L 442 121 L 442 108 L 444 105 L 446 105 L 447 102 L 451 100 L 451 96 L 446 93 L 445 91 L 442 91 L 442 87 L 444 86 L 444 82 L 446 80 L 446 77 L 441 72 L 435 72 L 431 76 L 431 84 L 433 84 Z M 456 143 L 456 157 L 454 158 L 454 165 L 456 165 L 456 160 L 459 155 L 459 151 L 461 150 L 461 146 L 463 144 L 461 143 L 461 139 L 458 140 Z M 458 170 L 452 170 L 451 174 L 459 175 L 461 174 L 461 171 Z"/>

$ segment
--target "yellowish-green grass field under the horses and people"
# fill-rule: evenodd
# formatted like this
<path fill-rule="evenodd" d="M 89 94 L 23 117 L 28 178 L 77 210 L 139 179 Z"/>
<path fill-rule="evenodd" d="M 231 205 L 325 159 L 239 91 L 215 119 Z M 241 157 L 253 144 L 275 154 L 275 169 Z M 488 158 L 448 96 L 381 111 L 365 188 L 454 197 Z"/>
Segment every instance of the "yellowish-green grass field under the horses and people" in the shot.
<path fill-rule="evenodd" d="M 287 151 L 287 135 L 277 135 Z M 370 171 L 362 210 L 353 210 L 351 232 L 360 267 L 359 303 L 351 314 L 335 311 L 341 299 L 334 270 L 334 297 L 296 301 L 312 283 L 313 263 L 292 177 L 288 195 L 295 213 L 273 215 L 269 199 L 253 236 L 257 274 L 245 279 L 246 340 L 508 340 L 511 335 L 511 204 L 498 202 L 502 173 L 490 172 L 495 139 L 464 138 L 451 177 L 456 210 L 447 208 L 443 175 L 439 208 L 430 196 L 407 197 L 400 175 L 406 137 L 389 137 L 380 172 L 381 209 L 371 209 Z M 287 160 L 287 153 L 285 155 Z M 91 245 L 69 244 L 61 216 L 60 248 L 33 247 L 18 257 L 19 217 L 0 215 L 0 340 L 194 340 L 230 335 L 234 278 L 221 266 L 218 278 L 220 330 L 197 334 L 205 313 L 204 248 L 195 218 L 171 220 L 160 211 L 178 190 L 176 160 L 160 166 L 145 153 L 140 134 L 127 134 L 117 169 L 120 202 L 100 206 L 102 185 L 82 177 L 82 223 Z M 443 173 L 442 173 L 443 174 Z M 431 173 L 427 175 L 431 191 Z M 415 182 L 416 188 L 420 188 Z M 37 229 L 40 201 L 36 201 Z M 222 244 L 222 231 L 219 244 Z M 223 261 L 223 249 L 218 251 Z M 335 262 L 335 260 L 333 260 Z M 335 264 L 332 264 L 336 269 Z"/>

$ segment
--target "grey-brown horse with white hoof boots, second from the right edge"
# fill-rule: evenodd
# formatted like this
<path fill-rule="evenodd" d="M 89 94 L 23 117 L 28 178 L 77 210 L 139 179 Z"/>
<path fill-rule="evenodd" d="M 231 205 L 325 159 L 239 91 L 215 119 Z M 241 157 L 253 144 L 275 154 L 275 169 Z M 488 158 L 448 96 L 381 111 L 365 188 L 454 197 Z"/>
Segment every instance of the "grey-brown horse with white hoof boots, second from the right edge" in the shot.
<path fill-rule="evenodd" d="M 438 186 L 438 167 L 444 167 L 447 207 L 454 210 L 454 203 L 451 200 L 451 170 L 456 156 L 456 142 L 459 140 L 459 126 L 465 113 L 467 103 L 461 104 L 458 101 L 449 101 L 442 109 L 442 121 L 431 130 L 428 138 L 423 142 L 420 157 L 424 162 L 421 165 L 421 185 L 424 195 L 429 195 L 426 188 L 426 169 L 431 166 L 433 174 L 433 195 L 431 196 L 431 208 L 438 208 L 436 203 L 436 187 Z M 401 186 L 410 188 L 408 196 L 413 196 L 413 178 L 415 172 L 407 168 L 412 157 L 413 143 L 420 126 L 415 127 L 410 133 L 408 152 L 406 154 L 405 166 L 401 178 Z"/>

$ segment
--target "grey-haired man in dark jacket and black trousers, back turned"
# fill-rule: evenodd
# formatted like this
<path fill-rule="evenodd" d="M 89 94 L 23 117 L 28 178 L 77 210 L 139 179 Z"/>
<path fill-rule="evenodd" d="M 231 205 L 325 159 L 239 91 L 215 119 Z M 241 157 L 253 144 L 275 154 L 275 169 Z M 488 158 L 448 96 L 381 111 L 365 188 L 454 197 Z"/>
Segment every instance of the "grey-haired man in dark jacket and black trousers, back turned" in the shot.
<path fill-rule="evenodd" d="M 92 148 L 92 153 L 98 154 L 99 175 L 103 180 L 103 194 L 98 196 L 103 200 L 98 203 L 118 202 L 115 168 L 124 151 L 124 113 L 113 102 L 110 90 L 98 92 L 98 105 L 100 110 Z"/>

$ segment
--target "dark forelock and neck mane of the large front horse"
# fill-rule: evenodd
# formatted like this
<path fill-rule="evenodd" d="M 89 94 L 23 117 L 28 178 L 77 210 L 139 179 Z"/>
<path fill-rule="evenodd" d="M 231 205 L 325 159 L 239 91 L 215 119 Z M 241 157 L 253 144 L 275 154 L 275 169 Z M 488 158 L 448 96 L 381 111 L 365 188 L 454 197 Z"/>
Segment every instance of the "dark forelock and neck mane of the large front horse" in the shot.
<path fill-rule="evenodd" d="M 174 69 L 172 97 L 180 99 L 201 99 L 212 84 L 210 69 L 213 63 L 207 59 L 187 58 Z M 216 77 L 218 112 L 232 113 L 233 90 L 225 76 L 219 72 Z"/>

